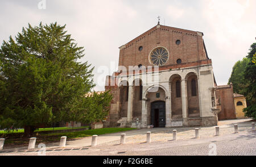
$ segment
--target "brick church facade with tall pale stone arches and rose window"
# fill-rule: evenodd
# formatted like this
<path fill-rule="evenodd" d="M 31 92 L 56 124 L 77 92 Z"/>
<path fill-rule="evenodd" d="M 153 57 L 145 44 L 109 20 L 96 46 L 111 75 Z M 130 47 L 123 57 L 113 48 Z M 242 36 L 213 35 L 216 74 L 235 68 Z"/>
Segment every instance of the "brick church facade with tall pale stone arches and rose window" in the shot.
<path fill-rule="evenodd" d="M 119 69 L 106 77 L 113 100 L 104 124 L 217 125 L 216 81 L 203 35 L 157 24 L 119 47 Z"/>

